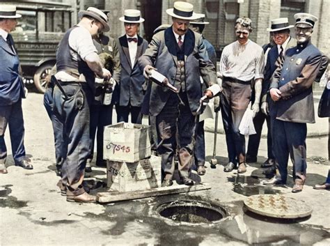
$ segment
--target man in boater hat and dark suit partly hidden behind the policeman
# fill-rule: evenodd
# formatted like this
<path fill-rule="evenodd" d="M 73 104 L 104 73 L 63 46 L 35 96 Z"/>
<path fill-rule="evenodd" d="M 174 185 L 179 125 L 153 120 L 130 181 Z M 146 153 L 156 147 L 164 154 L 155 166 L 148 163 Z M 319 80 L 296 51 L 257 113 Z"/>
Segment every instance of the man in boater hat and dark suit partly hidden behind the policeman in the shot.
<path fill-rule="evenodd" d="M 272 133 L 271 133 L 271 116 L 269 115 L 269 106 L 272 106 L 272 100 L 267 97 L 269 90 L 270 79 L 277 68 L 278 57 L 281 59 L 285 55 L 285 50 L 296 45 L 297 40 L 290 37 L 290 25 L 288 18 L 278 18 L 271 21 L 271 27 L 267 31 L 271 33 L 272 39 L 275 43 L 272 49 L 269 49 L 267 54 L 267 62 L 264 72 L 264 81 L 262 82 L 261 92 L 261 111 L 253 118 L 253 124 L 256 128 L 256 134 L 249 136 L 248 149 L 246 151 L 246 162 L 257 162 L 258 148 L 260 145 L 260 137 L 262 125 L 267 121 L 267 160 L 261 164 L 262 168 L 271 167 L 267 169 L 266 174 L 273 174 L 276 169 L 275 157 L 272 149 Z"/>

